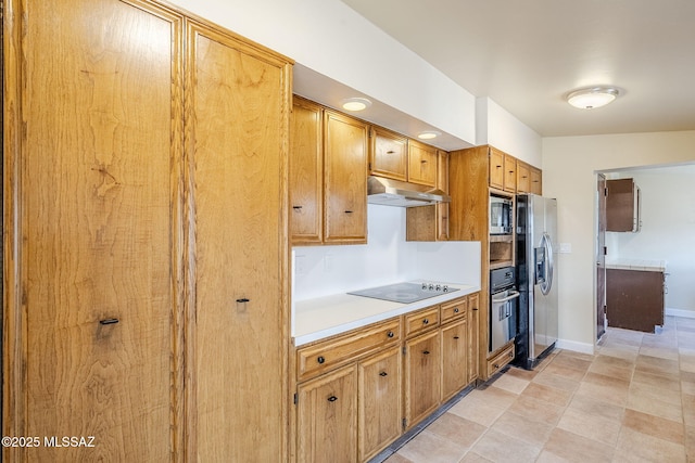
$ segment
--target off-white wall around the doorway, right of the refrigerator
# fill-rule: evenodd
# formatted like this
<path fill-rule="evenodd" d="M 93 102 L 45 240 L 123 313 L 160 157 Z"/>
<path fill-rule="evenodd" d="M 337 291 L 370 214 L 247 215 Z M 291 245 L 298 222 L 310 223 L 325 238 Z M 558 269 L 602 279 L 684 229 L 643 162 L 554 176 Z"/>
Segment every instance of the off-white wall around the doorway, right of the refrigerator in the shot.
<path fill-rule="evenodd" d="M 595 338 L 596 171 L 695 160 L 695 131 L 543 139 L 543 195 L 557 197 L 558 234 L 571 245 L 558 256 L 559 337 Z"/>

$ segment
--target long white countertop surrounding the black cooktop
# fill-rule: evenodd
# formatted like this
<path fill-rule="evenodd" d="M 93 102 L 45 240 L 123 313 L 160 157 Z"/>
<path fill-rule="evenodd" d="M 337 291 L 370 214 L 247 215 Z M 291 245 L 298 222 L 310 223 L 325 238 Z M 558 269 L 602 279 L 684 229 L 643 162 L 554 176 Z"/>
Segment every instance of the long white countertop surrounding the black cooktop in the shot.
<path fill-rule="evenodd" d="M 413 304 L 390 303 L 351 294 L 336 294 L 294 303 L 294 346 L 301 346 L 350 330 L 397 317 L 413 310 L 435 306 L 480 291 L 480 286 L 448 284 L 451 293 Z"/>

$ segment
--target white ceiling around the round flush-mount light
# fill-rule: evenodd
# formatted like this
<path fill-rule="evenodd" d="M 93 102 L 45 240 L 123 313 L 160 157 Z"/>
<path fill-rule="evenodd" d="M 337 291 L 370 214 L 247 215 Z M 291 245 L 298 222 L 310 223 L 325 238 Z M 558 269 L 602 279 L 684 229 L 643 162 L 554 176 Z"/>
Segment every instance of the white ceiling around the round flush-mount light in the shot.
<path fill-rule="evenodd" d="M 694 0 L 342 0 L 542 137 L 695 129 Z M 581 111 L 571 90 L 624 93 Z"/>

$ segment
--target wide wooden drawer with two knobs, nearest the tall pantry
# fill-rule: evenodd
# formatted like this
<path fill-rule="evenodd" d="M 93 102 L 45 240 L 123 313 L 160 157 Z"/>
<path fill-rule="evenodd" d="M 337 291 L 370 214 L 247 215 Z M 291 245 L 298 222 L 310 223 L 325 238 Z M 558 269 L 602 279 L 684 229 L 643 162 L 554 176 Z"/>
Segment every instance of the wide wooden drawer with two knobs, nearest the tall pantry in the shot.
<path fill-rule="evenodd" d="M 401 324 L 399 319 L 393 319 L 302 347 L 296 351 L 298 381 L 321 374 L 400 339 Z"/>

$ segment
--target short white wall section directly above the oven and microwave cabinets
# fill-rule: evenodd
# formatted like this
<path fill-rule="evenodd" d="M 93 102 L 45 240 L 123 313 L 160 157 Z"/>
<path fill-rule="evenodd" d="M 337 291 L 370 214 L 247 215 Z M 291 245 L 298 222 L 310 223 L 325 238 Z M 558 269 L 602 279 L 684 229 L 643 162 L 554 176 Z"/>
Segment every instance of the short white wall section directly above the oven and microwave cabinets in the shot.
<path fill-rule="evenodd" d="M 489 98 L 476 100 L 476 144 L 492 146 L 541 167 L 541 136 Z"/>

